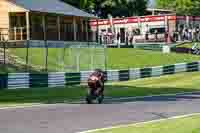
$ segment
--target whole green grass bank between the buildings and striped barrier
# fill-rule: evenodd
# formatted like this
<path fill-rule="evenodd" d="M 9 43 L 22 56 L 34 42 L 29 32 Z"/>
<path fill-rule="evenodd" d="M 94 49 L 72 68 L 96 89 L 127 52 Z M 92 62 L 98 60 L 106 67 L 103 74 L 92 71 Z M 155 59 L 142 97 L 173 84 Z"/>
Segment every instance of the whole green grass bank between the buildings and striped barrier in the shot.
<path fill-rule="evenodd" d="M 163 54 L 156 51 L 145 51 L 138 49 L 106 49 L 106 65 L 104 56 L 97 54 L 100 49 L 49 49 L 48 68 L 49 71 L 76 71 L 76 53 L 80 50 L 80 70 L 91 70 L 91 54 L 94 55 L 93 68 L 104 69 L 128 69 L 143 68 L 159 65 L 170 65 L 175 63 L 193 62 L 200 60 L 200 56 L 188 54 Z M 10 49 L 10 52 L 25 60 L 26 49 Z M 29 64 L 45 67 L 45 49 L 32 48 L 29 50 Z M 59 60 L 64 58 L 65 65 Z M 72 69 L 64 69 L 64 66 Z"/>

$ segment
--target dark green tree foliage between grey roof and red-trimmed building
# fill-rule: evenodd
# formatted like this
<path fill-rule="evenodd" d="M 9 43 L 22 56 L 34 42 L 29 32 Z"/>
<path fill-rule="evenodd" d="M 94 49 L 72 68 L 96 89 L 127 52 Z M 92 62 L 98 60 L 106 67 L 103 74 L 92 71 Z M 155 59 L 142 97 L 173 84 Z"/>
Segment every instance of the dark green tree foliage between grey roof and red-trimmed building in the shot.
<path fill-rule="evenodd" d="M 101 17 L 144 15 L 148 0 L 63 0 L 64 2 Z"/>

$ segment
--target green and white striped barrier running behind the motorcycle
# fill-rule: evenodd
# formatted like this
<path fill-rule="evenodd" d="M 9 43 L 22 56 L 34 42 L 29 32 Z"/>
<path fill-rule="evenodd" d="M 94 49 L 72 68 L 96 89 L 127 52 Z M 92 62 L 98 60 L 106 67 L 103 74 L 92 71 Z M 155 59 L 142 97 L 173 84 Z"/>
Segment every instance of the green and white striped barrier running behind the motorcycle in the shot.
<path fill-rule="evenodd" d="M 129 70 L 108 70 L 106 81 L 128 81 L 140 78 L 158 77 L 180 72 L 200 71 L 200 62 L 179 63 L 151 68 L 135 68 Z M 64 87 L 86 83 L 92 71 L 80 73 L 9 73 L 0 74 L 0 89 L 34 88 L 34 87 Z"/>

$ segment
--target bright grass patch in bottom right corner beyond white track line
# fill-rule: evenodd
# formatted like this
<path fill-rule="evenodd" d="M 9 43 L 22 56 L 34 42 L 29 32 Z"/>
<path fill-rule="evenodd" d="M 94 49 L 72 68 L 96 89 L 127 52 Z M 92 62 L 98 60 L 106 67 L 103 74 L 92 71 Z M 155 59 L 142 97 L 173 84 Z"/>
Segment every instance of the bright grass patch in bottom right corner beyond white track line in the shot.
<path fill-rule="evenodd" d="M 93 133 L 199 133 L 200 115 L 148 124 L 127 125 Z"/>

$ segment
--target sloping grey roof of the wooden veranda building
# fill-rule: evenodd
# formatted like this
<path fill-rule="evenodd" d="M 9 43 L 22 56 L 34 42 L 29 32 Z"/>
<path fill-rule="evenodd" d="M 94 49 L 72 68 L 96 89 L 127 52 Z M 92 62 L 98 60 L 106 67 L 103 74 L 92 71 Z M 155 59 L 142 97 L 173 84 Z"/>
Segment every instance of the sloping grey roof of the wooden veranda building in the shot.
<path fill-rule="evenodd" d="M 60 0 L 9 0 L 30 11 L 63 14 L 68 16 L 95 17 Z"/>

